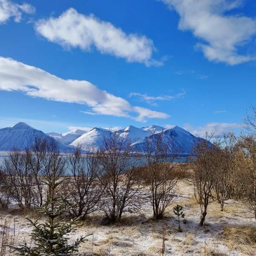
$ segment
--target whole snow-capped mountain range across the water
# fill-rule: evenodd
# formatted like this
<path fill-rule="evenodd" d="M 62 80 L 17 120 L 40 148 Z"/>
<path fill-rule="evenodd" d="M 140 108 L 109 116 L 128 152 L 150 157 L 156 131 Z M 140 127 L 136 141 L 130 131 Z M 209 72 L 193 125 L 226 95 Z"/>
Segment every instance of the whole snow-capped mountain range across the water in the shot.
<path fill-rule="evenodd" d="M 90 131 L 74 130 L 62 134 L 55 132 L 45 134 L 24 122 L 19 122 L 12 127 L 0 129 L 0 151 L 10 151 L 13 148 L 25 150 L 34 143 L 35 137 L 58 141 L 61 152 L 70 151 L 77 145 L 81 145 L 84 151 L 96 151 L 102 147 L 104 137 L 111 132 L 113 131 L 109 129 L 95 127 Z M 169 154 L 174 150 L 178 150 L 180 154 L 191 154 L 191 149 L 195 143 L 202 140 L 178 126 L 165 129 L 158 125 L 142 128 L 129 125 L 115 132 L 131 143 L 134 152 L 140 153 L 145 152 L 148 138 L 153 139 L 155 143 L 154 138 L 160 132 L 163 132 L 163 143 L 168 145 Z"/>

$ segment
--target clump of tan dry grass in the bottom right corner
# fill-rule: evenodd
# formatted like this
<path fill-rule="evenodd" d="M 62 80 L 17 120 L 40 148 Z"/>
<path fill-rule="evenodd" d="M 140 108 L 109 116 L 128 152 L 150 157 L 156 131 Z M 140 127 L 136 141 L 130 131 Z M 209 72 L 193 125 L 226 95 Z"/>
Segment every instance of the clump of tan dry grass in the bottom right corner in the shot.
<path fill-rule="evenodd" d="M 256 227 L 224 227 L 222 236 L 231 250 L 256 255 Z"/>

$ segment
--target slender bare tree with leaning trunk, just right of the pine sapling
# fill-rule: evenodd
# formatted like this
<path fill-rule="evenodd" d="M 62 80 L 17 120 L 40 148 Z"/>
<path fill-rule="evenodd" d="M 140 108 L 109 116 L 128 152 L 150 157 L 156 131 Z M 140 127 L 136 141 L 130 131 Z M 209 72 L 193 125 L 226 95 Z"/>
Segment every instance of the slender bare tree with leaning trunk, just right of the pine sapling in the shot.
<path fill-rule="evenodd" d="M 209 142 L 213 136 L 206 134 L 206 140 L 200 140 L 194 147 L 195 162 L 192 181 L 195 198 L 201 208 L 200 225 L 203 226 L 208 205 L 214 201 L 212 192 L 215 185 L 215 173 L 218 169 L 218 149 Z"/>

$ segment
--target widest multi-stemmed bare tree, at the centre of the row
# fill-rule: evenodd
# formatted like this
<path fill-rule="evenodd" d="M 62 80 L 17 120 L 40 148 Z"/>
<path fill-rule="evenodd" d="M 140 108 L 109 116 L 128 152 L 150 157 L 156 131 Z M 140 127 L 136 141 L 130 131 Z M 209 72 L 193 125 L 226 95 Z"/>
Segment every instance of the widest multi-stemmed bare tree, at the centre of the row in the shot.
<path fill-rule="evenodd" d="M 123 212 L 135 212 L 140 207 L 143 180 L 138 177 L 138 158 L 132 157 L 129 143 L 115 132 L 105 136 L 99 157 L 105 187 L 102 210 L 109 222 L 116 222 Z"/>

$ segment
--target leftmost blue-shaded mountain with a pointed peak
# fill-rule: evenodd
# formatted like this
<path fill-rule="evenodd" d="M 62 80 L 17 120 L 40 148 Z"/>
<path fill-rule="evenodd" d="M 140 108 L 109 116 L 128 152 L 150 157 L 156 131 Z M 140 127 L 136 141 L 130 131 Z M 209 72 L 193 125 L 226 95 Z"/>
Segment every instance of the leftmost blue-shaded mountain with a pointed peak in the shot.
<path fill-rule="evenodd" d="M 0 151 L 10 151 L 13 148 L 25 150 L 34 144 L 35 138 L 53 140 L 52 137 L 42 131 L 27 125 L 24 122 L 19 122 L 12 127 L 0 129 Z M 70 151 L 71 147 L 59 143 L 60 151 Z"/>

